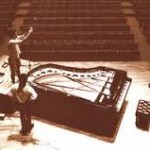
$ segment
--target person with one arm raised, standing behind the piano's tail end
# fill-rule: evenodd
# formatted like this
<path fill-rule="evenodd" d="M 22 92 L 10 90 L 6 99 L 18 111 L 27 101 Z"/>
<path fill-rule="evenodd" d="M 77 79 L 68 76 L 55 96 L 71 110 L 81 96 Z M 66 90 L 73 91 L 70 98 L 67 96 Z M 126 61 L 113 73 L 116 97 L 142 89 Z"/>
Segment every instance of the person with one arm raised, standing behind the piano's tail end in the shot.
<path fill-rule="evenodd" d="M 15 83 L 15 75 L 20 76 L 20 47 L 19 44 L 22 43 L 27 37 L 32 33 L 33 28 L 30 27 L 27 33 L 18 35 L 14 30 L 8 31 L 8 36 L 10 38 L 8 43 L 8 50 L 9 50 L 9 66 L 10 66 L 10 73 L 11 73 L 11 80 L 12 83 Z"/>

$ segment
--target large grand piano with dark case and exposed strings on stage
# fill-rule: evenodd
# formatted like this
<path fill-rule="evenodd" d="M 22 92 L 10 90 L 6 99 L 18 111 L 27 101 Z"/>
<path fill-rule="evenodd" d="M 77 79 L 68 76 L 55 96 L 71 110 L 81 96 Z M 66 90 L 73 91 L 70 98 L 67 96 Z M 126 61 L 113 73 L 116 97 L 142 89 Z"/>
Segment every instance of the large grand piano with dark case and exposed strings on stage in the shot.
<path fill-rule="evenodd" d="M 108 67 L 40 65 L 29 72 L 38 93 L 33 114 L 76 131 L 113 138 L 119 129 L 132 79 Z"/>

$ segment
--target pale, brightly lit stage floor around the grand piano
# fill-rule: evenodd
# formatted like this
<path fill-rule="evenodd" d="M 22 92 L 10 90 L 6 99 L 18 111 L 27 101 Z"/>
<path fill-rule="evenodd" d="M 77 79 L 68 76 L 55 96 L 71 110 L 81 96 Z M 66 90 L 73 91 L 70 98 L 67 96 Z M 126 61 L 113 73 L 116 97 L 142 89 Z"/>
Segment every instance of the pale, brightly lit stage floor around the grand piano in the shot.
<path fill-rule="evenodd" d="M 5 74 L 4 81 L 0 84 L 0 93 L 5 93 L 10 82 L 9 67 L 3 68 L 3 63 L 7 61 L 7 56 L 0 58 L 0 73 Z M 47 62 L 38 62 L 39 64 Z M 31 62 L 31 67 L 39 65 L 37 62 Z M 62 128 L 51 122 L 39 118 L 33 118 L 35 127 L 32 135 L 28 138 L 22 138 L 18 134 L 20 130 L 20 120 L 18 114 L 7 116 L 5 120 L 0 121 L 0 150 L 120 150 L 133 149 L 141 150 L 150 147 L 150 132 L 142 131 L 135 126 L 135 112 L 138 100 L 150 100 L 150 62 L 51 62 L 60 65 L 74 67 L 96 67 L 107 66 L 115 69 L 127 71 L 128 76 L 132 78 L 132 84 L 129 89 L 126 100 L 128 105 L 122 119 L 114 143 L 109 143 L 98 139 L 97 137 L 82 134 Z M 29 62 L 22 60 L 22 72 L 28 72 Z"/>

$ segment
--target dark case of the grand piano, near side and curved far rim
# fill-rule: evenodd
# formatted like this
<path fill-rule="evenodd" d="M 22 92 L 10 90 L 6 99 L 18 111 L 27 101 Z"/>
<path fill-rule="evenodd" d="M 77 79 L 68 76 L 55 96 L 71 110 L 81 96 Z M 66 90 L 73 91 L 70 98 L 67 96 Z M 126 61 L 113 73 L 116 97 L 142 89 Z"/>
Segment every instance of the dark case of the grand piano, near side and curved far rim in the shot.
<path fill-rule="evenodd" d="M 43 71 L 45 68 L 59 69 L 62 71 L 62 74 L 63 71 L 70 71 L 74 76 L 78 73 L 80 75 L 82 73 L 83 76 L 85 76 L 87 73 L 97 72 L 98 70 L 106 72 L 114 71 L 116 73 L 119 72 L 119 74 L 125 78 L 124 81 L 128 80 L 131 82 L 131 79 L 126 76 L 126 72 L 102 66 L 84 69 L 56 64 L 41 65 L 29 72 L 29 84 L 33 86 L 38 93 L 38 99 L 33 107 L 33 115 L 79 131 L 84 131 L 85 133 L 90 133 L 94 136 L 111 138 L 112 141 L 114 141 L 123 116 L 122 114 L 124 113 L 125 100 L 120 111 L 116 111 L 112 105 L 104 105 L 96 101 L 91 102 L 84 98 L 66 94 L 65 92 L 46 88 L 42 84 L 34 82 L 37 80 L 36 78 L 42 75 L 45 76 L 46 72 Z M 49 70 L 49 72 L 53 71 Z M 36 76 L 34 74 L 36 74 Z M 121 89 L 119 89 L 118 92 L 120 92 L 120 90 Z"/>

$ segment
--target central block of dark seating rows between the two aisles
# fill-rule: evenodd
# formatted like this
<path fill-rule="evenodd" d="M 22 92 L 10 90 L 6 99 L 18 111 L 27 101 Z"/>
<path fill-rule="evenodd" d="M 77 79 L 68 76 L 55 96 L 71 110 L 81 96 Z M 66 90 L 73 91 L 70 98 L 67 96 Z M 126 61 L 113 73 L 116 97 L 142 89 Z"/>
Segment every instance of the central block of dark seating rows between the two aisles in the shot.
<path fill-rule="evenodd" d="M 137 60 L 138 45 L 121 0 L 31 0 L 21 30 L 34 32 L 22 57 L 32 60 Z M 43 57 L 42 57 L 43 55 Z"/>

